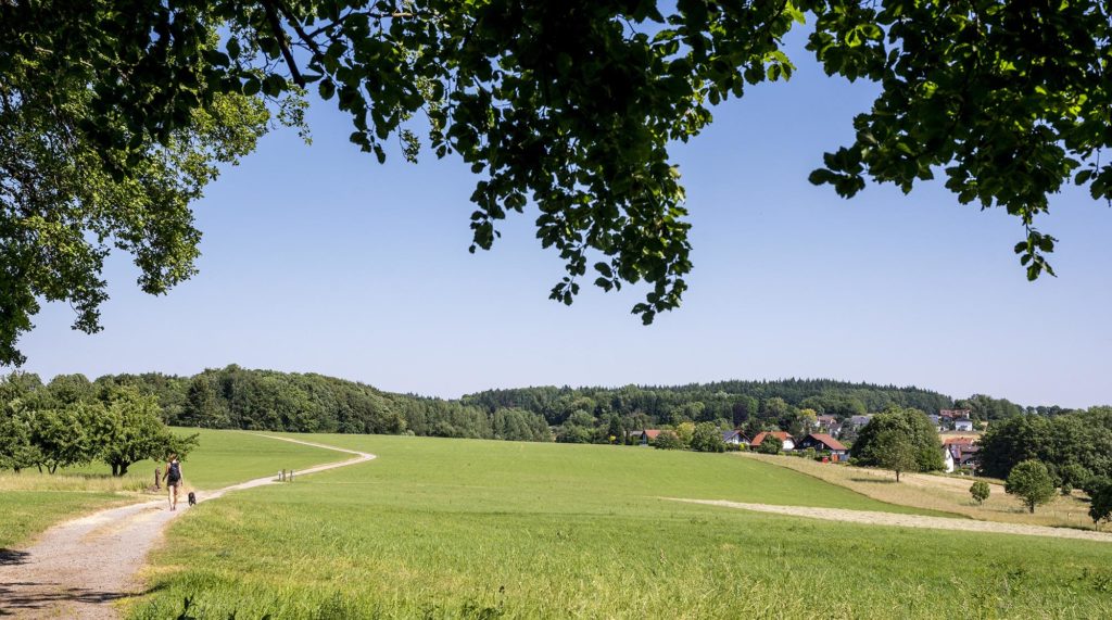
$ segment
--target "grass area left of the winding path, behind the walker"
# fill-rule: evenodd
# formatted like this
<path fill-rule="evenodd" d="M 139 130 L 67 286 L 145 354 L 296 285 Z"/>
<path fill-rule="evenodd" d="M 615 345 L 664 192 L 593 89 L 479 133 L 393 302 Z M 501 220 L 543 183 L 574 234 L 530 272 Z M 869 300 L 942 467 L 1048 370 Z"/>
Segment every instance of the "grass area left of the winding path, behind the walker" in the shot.
<path fill-rule="evenodd" d="M 177 429 L 178 432 L 198 432 Z M 200 444 L 182 463 L 187 484 L 216 489 L 279 469 L 344 460 L 345 454 L 234 431 L 201 430 Z M 53 523 L 113 504 L 153 499 L 141 489 L 155 480 L 153 461 L 136 463 L 122 479 L 92 463 L 58 474 L 0 473 L 0 548 L 27 542 Z"/>

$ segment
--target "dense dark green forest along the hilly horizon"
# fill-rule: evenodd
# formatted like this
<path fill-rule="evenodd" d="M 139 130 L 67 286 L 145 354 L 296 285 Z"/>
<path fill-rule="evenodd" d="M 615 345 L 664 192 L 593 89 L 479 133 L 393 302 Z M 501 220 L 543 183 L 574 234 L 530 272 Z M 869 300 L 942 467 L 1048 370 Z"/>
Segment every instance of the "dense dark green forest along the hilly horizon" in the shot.
<path fill-rule="evenodd" d="M 17 381 L 18 379 L 18 381 Z M 808 432 L 816 416 L 845 419 L 890 408 L 927 413 L 967 408 L 976 420 L 1023 413 L 1063 414 L 975 394 L 964 400 L 915 387 L 824 379 L 722 381 L 678 387 L 534 387 L 487 390 L 457 400 L 399 394 L 316 373 L 209 369 L 193 377 L 157 372 L 90 381 L 58 376 L 48 383 L 13 373 L 9 383 L 50 392 L 130 389 L 156 399 L 170 426 L 290 432 L 389 433 L 520 441 L 608 443 L 628 431 L 709 422 L 742 429 Z M 46 392 L 44 392 L 46 393 Z"/>

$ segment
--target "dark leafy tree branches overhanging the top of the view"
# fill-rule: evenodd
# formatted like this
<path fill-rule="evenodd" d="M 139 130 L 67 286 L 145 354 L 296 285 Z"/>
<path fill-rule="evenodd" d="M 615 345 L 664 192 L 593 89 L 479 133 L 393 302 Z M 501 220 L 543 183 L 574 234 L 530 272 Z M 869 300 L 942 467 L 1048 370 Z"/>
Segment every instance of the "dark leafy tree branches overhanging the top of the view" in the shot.
<path fill-rule="evenodd" d="M 349 113 L 351 141 L 379 160 L 399 138 L 407 158 L 425 146 L 470 164 L 473 250 L 532 201 L 566 266 L 550 297 L 645 280 L 633 311 L 651 322 L 679 304 L 692 268 L 668 146 L 747 86 L 788 78 L 783 37 L 807 22 L 828 73 L 878 84 L 812 182 L 850 197 L 867 179 L 911 191 L 941 172 L 961 202 L 1020 219 L 1032 279 L 1055 243 L 1035 226 L 1048 196 L 1072 180 L 1112 199 L 1099 0 L 11 0 L 0 361 L 22 359 L 38 299 L 68 300 L 78 328 L 98 329 L 111 246 L 148 292 L 192 274 L 188 202 L 212 162 L 254 146 L 259 93 L 302 87 Z"/>

